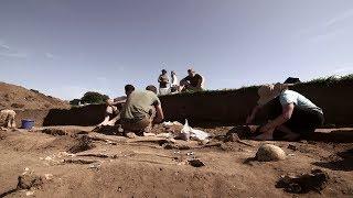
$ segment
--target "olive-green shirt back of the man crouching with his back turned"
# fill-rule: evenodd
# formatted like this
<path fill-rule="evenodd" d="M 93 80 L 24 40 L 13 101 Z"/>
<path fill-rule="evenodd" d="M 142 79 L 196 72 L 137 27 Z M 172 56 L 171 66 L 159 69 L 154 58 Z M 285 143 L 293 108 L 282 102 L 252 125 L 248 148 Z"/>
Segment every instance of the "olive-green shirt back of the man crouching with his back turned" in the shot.
<path fill-rule="evenodd" d="M 160 100 L 152 91 L 133 91 L 126 101 L 121 119 L 142 120 Z"/>

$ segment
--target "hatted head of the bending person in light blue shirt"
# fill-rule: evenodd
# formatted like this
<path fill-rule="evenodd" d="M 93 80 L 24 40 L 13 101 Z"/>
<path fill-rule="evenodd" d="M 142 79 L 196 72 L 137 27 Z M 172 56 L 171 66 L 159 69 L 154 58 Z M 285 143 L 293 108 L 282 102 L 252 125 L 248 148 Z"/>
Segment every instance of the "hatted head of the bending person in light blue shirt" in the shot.
<path fill-rule="evenodd" d="M 278 97 L 284 90 L 288 89 L 290 84 L 267 84 L 258 88 L 257 94 L 260 97 L 257 101 L 259 106 L 264 106 Z"/>

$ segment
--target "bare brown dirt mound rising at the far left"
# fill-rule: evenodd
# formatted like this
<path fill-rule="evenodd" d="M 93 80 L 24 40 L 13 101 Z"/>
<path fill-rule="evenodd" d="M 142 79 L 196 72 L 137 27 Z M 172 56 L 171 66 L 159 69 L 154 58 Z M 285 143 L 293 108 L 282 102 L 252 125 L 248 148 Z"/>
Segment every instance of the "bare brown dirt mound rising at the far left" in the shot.
<path fill-rule="evenodd" d="M 0 82 L 0 109 L 68 109 L 69 103 L 34 89 Z"/>

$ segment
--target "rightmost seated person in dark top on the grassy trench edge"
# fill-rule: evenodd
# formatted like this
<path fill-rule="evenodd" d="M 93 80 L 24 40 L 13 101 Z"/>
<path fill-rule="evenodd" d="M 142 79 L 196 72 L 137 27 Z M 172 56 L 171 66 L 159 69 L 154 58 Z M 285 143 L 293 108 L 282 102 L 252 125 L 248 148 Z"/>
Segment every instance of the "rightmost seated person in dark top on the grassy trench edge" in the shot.
<path fill-rule="evenodd" d="M 180 81 L 179 91 L 199 91 L 203 90 L 204 79 L 196 74 L 192 68 L 188 70 L 188 76 Z"/>

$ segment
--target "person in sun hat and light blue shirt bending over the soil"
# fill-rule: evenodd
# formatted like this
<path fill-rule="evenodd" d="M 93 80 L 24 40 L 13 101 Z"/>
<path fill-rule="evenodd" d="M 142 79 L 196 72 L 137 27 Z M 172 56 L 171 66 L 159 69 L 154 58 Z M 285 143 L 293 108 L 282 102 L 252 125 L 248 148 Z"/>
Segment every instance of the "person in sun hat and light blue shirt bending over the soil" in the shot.
<path fill-rule="evenodd" d="M 265 105 L 269 107 L 270 121 L 259 129 L 261 134 L 255 139 L 272 140 L 274 132 L 280 131 L 286 134 L 284 139 L 295 141 L 323 124 L 322 109 L 299 92 L 289 90 L 289 86 L 264 85 L 258 89 L 259 100 L 246 122 L 252 123 L 257 111 Z"/>

